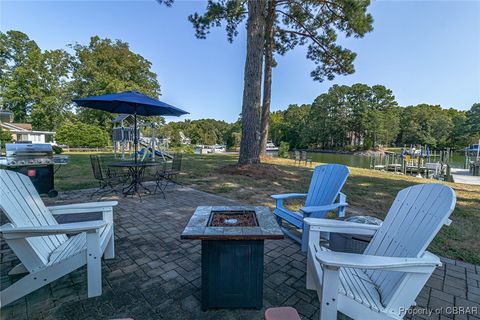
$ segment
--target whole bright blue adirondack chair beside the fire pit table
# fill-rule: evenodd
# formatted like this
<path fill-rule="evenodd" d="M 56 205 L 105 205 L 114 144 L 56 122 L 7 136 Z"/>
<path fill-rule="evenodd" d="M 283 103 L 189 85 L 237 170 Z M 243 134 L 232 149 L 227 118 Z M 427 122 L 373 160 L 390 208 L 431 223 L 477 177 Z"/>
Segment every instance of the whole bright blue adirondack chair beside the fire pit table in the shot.
<path fill-rule="evenodd" d="M 275 215 L 280 227 L 286 235 L 302 244 L 302 251 L 307 250 L 308 230 L 303 223 L 304 218 L 325 218 L 328 212 L 338 210 L 338 216 L 345 216 L 347 196 L 340 192 L 349 175 L 348 168 L 341 164 L 326 164 L 315 167 L 308 193 L 276 194 L 271 197 L 276 200 Z M 283 206 L 283 200 L 306 198 L 304 207 L 298 212 Z M 335 202 L 338 199 L 338 202 Z M 303 230 L 301 237 L 291 229 L 282 225 L 282 220 Z"/>

